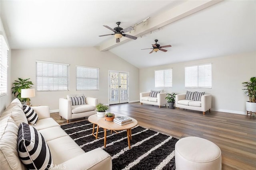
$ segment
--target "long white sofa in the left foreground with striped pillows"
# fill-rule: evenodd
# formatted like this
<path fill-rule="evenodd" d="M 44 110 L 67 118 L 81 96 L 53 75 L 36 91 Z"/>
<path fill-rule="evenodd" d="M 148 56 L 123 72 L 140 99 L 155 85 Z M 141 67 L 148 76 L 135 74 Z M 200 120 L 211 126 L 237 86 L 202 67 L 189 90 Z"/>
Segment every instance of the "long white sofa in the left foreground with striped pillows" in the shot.
<path fill-rule="evenodd" d="M 112 169 L 111 156 L 107 152 L 100 148 L 84 152 L 50 117 L 48 106 L 36 106 L 32 109 L 38 115 L 36 125 L 32 126 L 42 134 L 50 149 L 53 160 L 52 169 Z M 15 99 L 0 116 L 1 170 L 26 169 L 17 151 L 18 126 L 22 122 L 28 123 L 24 120 L 24 115 L 20 101 Z"/>

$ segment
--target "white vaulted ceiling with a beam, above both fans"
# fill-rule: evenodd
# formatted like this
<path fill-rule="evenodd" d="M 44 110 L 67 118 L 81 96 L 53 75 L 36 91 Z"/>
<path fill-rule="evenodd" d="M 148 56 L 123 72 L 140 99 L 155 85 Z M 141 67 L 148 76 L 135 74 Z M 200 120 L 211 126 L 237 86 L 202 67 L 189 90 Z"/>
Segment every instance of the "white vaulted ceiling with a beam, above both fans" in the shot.
<path fill-rule="evenodd" d="M 11 49 L 98 46 L 138 68 L 256 51 L 254 0 L 1 0 L 0 15 Z M 98 37 L 117 21 L 138 39 Z M 141 50 L 154 39 L 172 47 Z"/>

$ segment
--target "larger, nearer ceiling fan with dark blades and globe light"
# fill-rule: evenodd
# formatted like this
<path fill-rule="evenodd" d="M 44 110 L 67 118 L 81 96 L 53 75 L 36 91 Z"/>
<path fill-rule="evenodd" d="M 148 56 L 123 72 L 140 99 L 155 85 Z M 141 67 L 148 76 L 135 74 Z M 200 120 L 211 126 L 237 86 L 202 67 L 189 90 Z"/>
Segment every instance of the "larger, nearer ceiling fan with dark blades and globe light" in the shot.
<path fill-rule="evenodd" d="M 107 35 L 114 35 L 114 37 L 116 38 L 116 43 L 120 42 L 120 38 L 127 37 L 130 39 L 137 39 L 137 37 L 133 36 L 133 35 L 128 35 L 128 34 L 124 34 L 126 32 L 132 31 L 134 30 L 134 27 L 127 27 L 125 29 L 123 29 L 122 27 L 119 27 L 121 22 L 117 22 L 116 24 L 118 25 L 117 27 L 114 27 L 114 29 L 112 29 L 111 27 L 107 26 L 107 25 L 103 25 L 104 27 L 110 29 L 111 31 L 114 31 L 113 34 L 106 34 L 106 35 L 99 35 L 99 37 L 103 37 L 103 36 L 107 36 Z"/>

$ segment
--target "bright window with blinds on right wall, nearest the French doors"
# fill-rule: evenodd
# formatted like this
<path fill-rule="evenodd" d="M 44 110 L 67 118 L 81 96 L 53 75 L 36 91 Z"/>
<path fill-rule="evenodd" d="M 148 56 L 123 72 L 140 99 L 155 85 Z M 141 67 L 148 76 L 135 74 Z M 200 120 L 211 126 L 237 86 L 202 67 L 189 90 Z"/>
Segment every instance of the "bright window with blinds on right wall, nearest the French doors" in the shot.
<path fill-rule="evenodd" d="M 172 87 L 172 68 L 166 70 L 155 70 L 155 87 Z"/>

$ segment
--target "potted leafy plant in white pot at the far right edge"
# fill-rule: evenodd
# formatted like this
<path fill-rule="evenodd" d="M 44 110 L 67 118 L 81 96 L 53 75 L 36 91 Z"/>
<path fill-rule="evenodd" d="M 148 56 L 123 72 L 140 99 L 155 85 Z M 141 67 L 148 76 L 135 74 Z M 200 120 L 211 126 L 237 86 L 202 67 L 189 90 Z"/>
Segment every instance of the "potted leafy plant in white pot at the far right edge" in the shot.
<path fill-rule="evenodd" d="M 244 85 L 245 94 L 249 97 L 246 101 L 246 111 L 256 113 L 256 77 L 250 78 L 250 82 L 242 82 Z"/>

